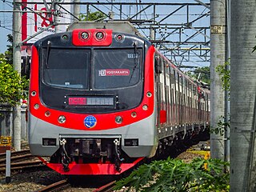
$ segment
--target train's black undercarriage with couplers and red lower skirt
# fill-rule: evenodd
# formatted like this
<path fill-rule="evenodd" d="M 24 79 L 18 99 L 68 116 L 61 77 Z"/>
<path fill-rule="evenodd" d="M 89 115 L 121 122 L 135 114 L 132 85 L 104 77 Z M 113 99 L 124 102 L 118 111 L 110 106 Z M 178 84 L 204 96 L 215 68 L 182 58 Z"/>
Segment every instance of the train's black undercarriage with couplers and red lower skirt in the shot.
<path fill-rule="evenodd" d="M 195 143 L 209 139 L 207 129 L 187 130 L 162 138 L 153 158 L 130 158 L 123 150 L 121 138 L 61 138 L 59 149 L 46 165 L 67 175 L 118 175 L 144 160 L 174 158 Z"/>

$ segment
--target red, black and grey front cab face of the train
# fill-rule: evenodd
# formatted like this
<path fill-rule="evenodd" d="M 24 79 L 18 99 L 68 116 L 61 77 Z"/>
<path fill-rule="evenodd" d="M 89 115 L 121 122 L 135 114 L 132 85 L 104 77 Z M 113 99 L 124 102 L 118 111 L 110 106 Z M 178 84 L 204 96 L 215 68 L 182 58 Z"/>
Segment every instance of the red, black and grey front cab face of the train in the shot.
<path fill-rule="evenodd" d="M 99 32 L 109 33 L 111 40 L 108 40 L 107 45 L 101 44 L 91 49 L 91 44 L 86 44 L 82 38 L 75 38 L 74 41 L 76 35 L 86 37 L 83 33 L 91 33 L 91 37 L 96 37 Z M 118 34 L 112 35 L 110 30 L 74 30 L 43 38 L 33 46 L 30 150 L 31 154 L 50 157 L 50 162 L 41 159 L 58 173 L 121 174 L 142 161 L 142 158 L 150 158 L 155 154 L 158 139 L 154 109 L 154 47 L 142 38 L 126 34 L 123 41 L 125 46 L 119 49 L 122 42 L 118 37 Z M 130 61 L 118 69 L 113 68 L 122 64 L 118 62 L 113 65 L 117 60 L 114 56 L 117 52 L 120 53 L 119 60 L 125 58 Z M 104 60 L 100 57 L 90 58 L 95 54 L 103 55 Z M 79 57 L 83 59 L 79 60 Z M 76 59 L 80 62 L 74 63 Z M 81 69 L 81 61 L 90 62 L 88 68 Z M 134 61 L 139 61 L 138 67 Z M 74 66 L 78 66 L 78 69 Z M 102 69 L 102 66 L 105 68 Z M 101 79 L 99 82 L 107 82 L 104 80 L 106 77 L 120 84 L 120 80 L 113 75 L 120 73 L 120 70 L 124 73 L 121 77 L 126 78 L 126 83 L 133 83 L 131 86 L 117 89 L 110 87 L 107 90 L 100 83 L 96 84 L 98 79 Z M 90 77 L 78 78 L 82 71 L 88 72 Z M 106 72 L 110 74 L 106 75 Z M 98 79 L 94 79 L 96 77 Z M 83 79 L 89 82 L 82 82 Z M 134 79 L 138 81 L 133 82 Z M 77 82 L 73 85 L 74 80 Z M 97 89 L 95 85 L 98 85 Z M 96 105 L 102 99 L 106 104 L 103 106 L 104 113 L 98 110 L 102 109 L 100 105 L 85 106 L 89 105 L 88 101 Z M 106 102 L 109 101 L 114 107 L 107 106 Z"/>

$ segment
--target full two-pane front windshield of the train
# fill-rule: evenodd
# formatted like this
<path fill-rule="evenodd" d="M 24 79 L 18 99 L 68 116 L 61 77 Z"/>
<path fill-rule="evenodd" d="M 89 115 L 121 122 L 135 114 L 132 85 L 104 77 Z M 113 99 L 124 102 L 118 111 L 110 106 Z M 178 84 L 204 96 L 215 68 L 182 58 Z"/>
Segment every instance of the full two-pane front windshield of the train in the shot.
<path fill-rule="evenodd" d="M 47 85 L 83 90 L 114 89 L 134 86 L 139 82 L 142 49 L 48 47 L 43 50 L 42 62 L 43 81 Z"/>

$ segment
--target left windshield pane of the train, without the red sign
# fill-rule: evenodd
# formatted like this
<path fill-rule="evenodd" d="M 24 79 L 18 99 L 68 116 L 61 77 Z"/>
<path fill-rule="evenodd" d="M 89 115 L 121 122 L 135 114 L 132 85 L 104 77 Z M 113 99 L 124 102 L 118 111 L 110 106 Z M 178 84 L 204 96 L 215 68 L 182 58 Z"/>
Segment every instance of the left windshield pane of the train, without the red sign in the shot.
<path fill-rule="evenodd" d="M 75 89 L 88 88 L 90 50 L 44 49 L 42 63 L 43 82 L 47 85 Z"/>

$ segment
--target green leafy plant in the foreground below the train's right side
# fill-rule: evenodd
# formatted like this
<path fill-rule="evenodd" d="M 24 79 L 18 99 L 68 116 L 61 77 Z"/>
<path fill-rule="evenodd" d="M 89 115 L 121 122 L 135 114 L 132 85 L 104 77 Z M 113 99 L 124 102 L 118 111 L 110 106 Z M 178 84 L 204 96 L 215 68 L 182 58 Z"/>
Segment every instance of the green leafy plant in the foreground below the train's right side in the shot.
<path fill-rule="evenodd" d="M 196 158 L 185 163 L 168 158 L 138 167 L 128 178 L 117 182 L 116 190 L 128 186 L 126 191 L 228 191 L 226 166 L 229 164 L 220 159 Z"/>

